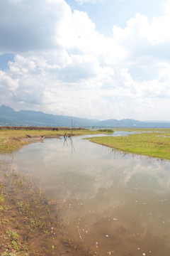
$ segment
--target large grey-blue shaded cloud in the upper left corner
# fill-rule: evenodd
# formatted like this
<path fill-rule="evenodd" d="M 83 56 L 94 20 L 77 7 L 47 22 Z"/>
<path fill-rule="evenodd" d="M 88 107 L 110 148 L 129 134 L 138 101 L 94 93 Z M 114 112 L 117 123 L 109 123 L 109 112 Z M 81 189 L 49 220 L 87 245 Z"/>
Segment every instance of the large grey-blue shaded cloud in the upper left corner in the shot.
<path fill-rule="evenodd" d="M 57 26 L 69 6 L 62 0 L 0 1 L 0 51 L 57 48 Z"/>

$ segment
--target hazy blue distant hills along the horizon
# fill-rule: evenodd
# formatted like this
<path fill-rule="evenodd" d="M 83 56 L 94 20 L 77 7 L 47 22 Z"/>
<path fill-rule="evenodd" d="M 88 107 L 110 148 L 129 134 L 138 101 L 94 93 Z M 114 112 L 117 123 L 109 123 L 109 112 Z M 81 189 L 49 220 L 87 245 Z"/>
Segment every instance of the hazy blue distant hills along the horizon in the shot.
<path fill-rule="evenodd" d="M 15 111 L 11 107 L 1 105 L 0 125 L 9 126 L 44 126 L 44 127 L 162 127 L 170 128 L 170 122 L 142 122 L 134 119 L 108 119 L 99 121 L 97 119 L 85 119 L 55 114 L 45 114 L 31 110 Z"/>

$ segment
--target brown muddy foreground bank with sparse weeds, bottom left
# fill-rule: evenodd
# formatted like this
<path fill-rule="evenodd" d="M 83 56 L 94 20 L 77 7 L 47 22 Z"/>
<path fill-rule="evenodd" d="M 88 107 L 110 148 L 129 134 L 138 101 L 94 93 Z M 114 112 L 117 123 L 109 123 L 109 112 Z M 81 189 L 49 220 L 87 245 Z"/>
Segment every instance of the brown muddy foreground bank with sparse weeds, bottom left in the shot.
<path fill-rule="evenodd" d="M 1 166 L 0 255 L 84 255 L 58 217 L 56 201 L 48 201 L 26 175 Z M 82 252 L 82 253 L 81 253 Z"/>

